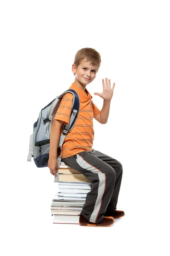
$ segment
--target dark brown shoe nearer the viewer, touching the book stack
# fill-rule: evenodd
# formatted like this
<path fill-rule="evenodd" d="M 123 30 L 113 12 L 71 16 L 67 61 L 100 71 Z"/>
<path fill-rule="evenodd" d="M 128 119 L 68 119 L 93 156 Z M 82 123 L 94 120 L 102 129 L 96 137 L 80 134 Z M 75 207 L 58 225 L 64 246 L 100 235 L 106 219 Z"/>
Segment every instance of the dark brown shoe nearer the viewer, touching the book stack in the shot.
<path fill-rule="evenodd" d="M 86 220 L 86 218 L 80 213 L 79 215 L 79 225 L 88 227 L 108 227 L 114 223 L 114 218 L 109 216 L 104 216 L 104 219 L 99 223 L 94 223 Z"/>

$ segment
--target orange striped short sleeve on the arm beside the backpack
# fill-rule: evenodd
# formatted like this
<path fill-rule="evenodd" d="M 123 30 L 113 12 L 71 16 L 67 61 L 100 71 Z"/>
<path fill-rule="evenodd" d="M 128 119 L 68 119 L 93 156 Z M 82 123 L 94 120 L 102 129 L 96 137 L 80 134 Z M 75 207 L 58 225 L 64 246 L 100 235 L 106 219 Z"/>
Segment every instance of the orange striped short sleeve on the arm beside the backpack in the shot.
<path fill-rule="evenodd" d="M 72 93 L 66 93 L 61 100 L 59 108 L 56 112 L 54 120 L 62 120 L 68 124 L 71 114 L 73 102 L 73 95 Z"/>

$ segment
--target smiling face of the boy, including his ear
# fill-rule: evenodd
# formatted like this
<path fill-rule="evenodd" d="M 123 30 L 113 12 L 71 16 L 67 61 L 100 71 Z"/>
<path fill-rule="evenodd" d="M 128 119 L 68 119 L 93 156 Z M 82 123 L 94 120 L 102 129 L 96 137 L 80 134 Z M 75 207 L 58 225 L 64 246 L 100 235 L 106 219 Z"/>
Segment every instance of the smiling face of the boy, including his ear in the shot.
<path fill-rule="evenodd" d="M 86 58 L 82 60 L 77 69 L 74 64 L 72 65 L 75 79 L 77 79 L 80 84 L 84 85 L 90 84 L 95 79 L 97 73 L 97 66 L 91 65 L 90 62 L 86 60 Z"/>

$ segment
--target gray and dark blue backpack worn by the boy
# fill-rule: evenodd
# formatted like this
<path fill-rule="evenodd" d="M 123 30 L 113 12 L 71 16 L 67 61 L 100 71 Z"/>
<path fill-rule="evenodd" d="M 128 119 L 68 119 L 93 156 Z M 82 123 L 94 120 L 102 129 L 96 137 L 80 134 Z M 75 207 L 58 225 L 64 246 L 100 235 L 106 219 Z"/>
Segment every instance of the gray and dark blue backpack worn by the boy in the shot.
<path fill-rule="evenodd" d="M 73 89 L 66 90 L 61 95 L 57 96 L 56 99 L 50 102 L 47 106 L 45 106 L 45 108 L 42 108 L 37 122 L 35 122 L 33 125 L 33 134 L 30 136 L 29 154 L 27 161 L 31 162 L 31 157 L 33 157 L 37 167 L 48 166 L 51 126 L 54 121 L 57 109 L 61 103 L 62 97 L 65 95 L 65 93 L 73 94 L 73 103 L 69 123 L 68 125 L 64 125 L 57 147 L 57 169 L 59 169 L 61 164 L 62 143 L 64 142 L 67 133 L 74 127 L 79 113 L 79 95 Z M 61 154 L 59 154 L 60 150 Z"/>

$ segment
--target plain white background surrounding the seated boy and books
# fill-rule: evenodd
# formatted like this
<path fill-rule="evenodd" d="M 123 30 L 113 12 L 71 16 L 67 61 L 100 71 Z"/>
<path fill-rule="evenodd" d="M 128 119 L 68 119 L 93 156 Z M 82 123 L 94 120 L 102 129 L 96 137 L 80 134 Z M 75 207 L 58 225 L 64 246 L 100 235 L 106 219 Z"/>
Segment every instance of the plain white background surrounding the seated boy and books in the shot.
<path fill-rule="evenodd" d="M 168 2 L 1 1 L 1 255 L 169 255 Z M 108 228 L 52 224 L 54 176 L 26 161 L 41 108 L 74 82 L 84 47 L 102 58 L 87 86 L 100 110 L 102 79 L 116 83 L 107 124 L 94 120 L 94 149 L 123 166 L 125 217 Z"/>

